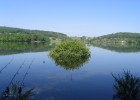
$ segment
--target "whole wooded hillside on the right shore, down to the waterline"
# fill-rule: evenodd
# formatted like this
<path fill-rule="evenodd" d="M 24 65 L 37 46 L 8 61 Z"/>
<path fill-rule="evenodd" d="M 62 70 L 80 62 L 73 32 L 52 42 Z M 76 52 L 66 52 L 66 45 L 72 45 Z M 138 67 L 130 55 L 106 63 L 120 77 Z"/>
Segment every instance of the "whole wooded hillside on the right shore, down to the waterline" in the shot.
<path fill-rule="evenodd" d="M 91 44 L 101 43 L 140 43 L 140 33 L 119 32 L 89 40 Z"/>

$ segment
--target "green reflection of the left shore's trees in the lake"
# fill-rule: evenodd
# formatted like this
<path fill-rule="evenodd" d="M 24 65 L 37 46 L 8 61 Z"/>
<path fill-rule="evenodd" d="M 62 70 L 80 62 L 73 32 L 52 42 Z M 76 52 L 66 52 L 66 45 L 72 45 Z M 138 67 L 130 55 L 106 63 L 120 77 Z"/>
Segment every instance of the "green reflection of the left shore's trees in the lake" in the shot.
<path fill-rule="evenodd" d="M 47 43 L 9 43 L 9 42 L 0 42 L 0 55 L 7 54 L 17 54 L 24 52 L 41 52 L 41 51 L 49 51 L 54 48 L 53 45 L 49 45 Z"/>

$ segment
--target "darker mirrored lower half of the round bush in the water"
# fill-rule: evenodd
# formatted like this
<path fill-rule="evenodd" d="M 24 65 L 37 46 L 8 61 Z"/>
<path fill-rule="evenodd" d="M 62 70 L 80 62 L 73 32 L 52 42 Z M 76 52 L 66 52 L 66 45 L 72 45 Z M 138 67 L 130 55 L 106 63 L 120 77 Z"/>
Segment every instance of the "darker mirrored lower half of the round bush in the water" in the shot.
<path fill-rule="evenodd" d="M 88 60 L 89 56 L 84 57 L 52 57 L 52 59 L 55 61 L 56 65 L 60 65 L 60 67 L 63 67 L 66 70 L 74 70 L 82 67 Z"/>

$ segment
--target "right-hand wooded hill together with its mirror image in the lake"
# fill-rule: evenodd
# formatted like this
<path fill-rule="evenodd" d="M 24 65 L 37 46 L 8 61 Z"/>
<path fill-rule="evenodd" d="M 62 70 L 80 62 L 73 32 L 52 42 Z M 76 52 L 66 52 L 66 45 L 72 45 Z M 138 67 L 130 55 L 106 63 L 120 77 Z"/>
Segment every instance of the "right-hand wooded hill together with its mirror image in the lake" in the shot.
<path fill-rule="evenodd" d="M 89 42 L 94 46 L 116 52 L 140 51 L 140 33 L 120 32 L 92 38 Z"/>

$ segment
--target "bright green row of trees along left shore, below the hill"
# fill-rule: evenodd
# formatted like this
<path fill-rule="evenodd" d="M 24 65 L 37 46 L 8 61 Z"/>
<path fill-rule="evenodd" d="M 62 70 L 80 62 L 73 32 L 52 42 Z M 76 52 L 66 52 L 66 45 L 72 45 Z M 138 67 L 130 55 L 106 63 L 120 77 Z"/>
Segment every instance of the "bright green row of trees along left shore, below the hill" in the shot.
<path fill-rule="evenodd" d="M 9 33 L 0 34 L 0 42 L 49 42 L 48 36 L 42 34 Z"/>

